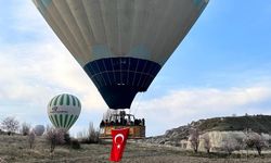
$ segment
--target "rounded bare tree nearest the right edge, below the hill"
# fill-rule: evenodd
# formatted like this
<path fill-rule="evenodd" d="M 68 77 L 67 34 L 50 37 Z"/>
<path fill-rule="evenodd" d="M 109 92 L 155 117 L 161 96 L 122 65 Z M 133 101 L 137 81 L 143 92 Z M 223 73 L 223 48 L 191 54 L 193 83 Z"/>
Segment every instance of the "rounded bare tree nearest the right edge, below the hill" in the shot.
<path fill-rule="evenodd" d="M 255 131 L 248 131 L 244 142 L 246 143 L 247 148 L 256 148 L 259 155 L 261 155 L 263 148 L 269 147 L 268 141 L 261 135 Z"/>

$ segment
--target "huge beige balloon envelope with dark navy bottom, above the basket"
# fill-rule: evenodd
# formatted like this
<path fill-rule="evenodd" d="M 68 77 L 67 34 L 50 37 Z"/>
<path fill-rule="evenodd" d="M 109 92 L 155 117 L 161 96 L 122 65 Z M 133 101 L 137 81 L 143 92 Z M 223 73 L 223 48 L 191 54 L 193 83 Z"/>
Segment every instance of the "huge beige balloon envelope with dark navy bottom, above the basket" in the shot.
<path fill-rule="evenodd" d="M 33 0 L 111 109 L 146 91 L 208 0 Z"/>

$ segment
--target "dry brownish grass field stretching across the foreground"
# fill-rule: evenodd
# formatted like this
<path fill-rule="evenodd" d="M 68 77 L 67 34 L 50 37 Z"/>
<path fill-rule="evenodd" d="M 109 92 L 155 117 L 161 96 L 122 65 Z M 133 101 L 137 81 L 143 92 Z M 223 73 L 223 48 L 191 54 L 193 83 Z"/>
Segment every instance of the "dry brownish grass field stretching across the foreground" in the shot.
<path fill-rule="evenodd" d="M 0 163 L 106 163 L 111 152 L 111 143 L 81 145 L 80 150 L 66 146 L 57 146 L 54 154 L 50 155 L 50 147 L 41 137 L 37 137 L 34 149 L 29 149 L 27 137 L 0 136 Z M 191 152 L 178 148 L 146 146 L 129 142 L 127 145 L 122 163 L 269 163 L 270 155 L 266 158 L 246 159 L 245 155 L 225 158 Z M 234 159 L 235 158 L 235 159 Z M 3 161 L 4 160 L 4 161 Z"/>

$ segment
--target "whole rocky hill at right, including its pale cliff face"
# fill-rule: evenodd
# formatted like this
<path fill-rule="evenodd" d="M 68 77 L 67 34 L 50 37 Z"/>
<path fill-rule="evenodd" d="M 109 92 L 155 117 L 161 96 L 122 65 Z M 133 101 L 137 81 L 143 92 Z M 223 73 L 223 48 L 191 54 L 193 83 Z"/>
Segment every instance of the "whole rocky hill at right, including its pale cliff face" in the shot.
<path fill-rule="evenodd" d="M 264 137 L 270 139 L 268 134 L 271 133 L 271 116 L 256 115 L 199 120 L 185 126 L 169 129 L 162 136 L 146 138 L 143 141 L 147 143 L 168 145 L 191 149 L 188 139 L 192 128 L 199 129 L 199 138 L 203 137 L 203 135 L 208 135 L 211 147 L 219 149 L 229 138 L 242 141 L 245 138 L 245 130 L 247 128 L 259 134 L 266 134 Z M 203 140 L 199 140 L 199 150 L 203 150 Z"/>

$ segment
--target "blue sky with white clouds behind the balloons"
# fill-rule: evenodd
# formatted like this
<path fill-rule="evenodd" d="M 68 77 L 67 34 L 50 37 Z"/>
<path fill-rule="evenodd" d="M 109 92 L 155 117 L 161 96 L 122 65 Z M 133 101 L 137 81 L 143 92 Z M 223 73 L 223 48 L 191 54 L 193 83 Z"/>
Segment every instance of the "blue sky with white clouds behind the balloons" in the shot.
<path fill-rule="evenodd" d="M 99 125 L 107 105 L 30 0 L 0 0 L 0 121 L 50 124 L 47 103 L 77 96 L 72 135 Z M 210 0 L 206 10 L 131 112 L 147 136 L 191 121 L 271 114 L 271 3 Z"/>

